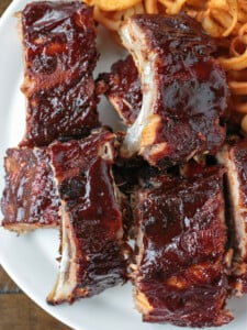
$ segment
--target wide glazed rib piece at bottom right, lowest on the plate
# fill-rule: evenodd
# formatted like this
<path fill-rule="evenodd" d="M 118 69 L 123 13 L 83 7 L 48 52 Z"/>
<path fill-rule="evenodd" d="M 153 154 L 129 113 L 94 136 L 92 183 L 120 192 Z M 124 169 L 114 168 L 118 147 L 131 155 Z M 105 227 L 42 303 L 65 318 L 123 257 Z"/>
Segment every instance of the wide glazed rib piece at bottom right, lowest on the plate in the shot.
<path fill-rule="evenodd" d="M 138 191 L 136 307 L 144 321 L 206 327 L 229 322 L 224 309 L 226 226 L 223 170 L 188 179 L 162 176 Z"/>

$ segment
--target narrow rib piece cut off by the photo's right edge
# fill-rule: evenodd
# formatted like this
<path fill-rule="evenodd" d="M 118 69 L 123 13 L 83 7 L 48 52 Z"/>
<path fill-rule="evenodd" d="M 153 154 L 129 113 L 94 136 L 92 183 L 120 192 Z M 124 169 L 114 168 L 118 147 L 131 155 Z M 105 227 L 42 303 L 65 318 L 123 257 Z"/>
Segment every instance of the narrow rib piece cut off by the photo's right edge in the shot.
<path fill-rule="evenodd" d="M 247 294 L 247 140 L 226 144 L 217 154 L 226 167 L 233 240 L 232 286 L 237 296 Z"/>

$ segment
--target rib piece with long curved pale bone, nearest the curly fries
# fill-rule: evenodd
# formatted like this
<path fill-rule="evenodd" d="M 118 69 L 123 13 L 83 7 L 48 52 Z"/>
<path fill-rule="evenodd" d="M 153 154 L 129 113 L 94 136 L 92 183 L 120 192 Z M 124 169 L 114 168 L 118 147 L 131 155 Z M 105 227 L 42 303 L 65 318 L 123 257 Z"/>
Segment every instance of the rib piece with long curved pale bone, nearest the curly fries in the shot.
<path fill-rule="evenodd" d="M 186 14 L 134 15 L 120 30 L 141 77 L 142 109 L 127 129 L 123 157 L 170 166 L 215 154 L 225 140 L 228 88 L 211 56 L 214 41 Z"/>

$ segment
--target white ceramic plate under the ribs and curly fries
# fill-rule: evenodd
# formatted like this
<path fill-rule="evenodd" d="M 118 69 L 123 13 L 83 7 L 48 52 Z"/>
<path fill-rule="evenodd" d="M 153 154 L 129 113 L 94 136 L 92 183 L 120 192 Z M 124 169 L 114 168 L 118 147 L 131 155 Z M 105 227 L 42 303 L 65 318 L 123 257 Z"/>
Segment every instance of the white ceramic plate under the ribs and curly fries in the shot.
<path fill-rule="evenodd" d="M 13 1 L 0 19 L 0 191 L 3 189 L 3 156 L 9 146 L 15 146 L 24 132 L 25 100 L 20 92 L 23 79 L 21 43 L 16 32 L 14 12 L 24 8 L 25 0 Z M 110 42 L 105 31 L 99 37 L 101 59 L 99 72 L 105 72 L 111 63 L 120 58 L 122 51 Z M 105 122 L 119 125 L 116 118 L 101 105 L 101 116 Z M 119 286 L 90 299 L 74 305 L 57 307 L 46 304 L 46 295 L 57 275 L 58 232 L 40 230 L 16 237 L 0 228 L 0 263 L 36 304 L 61 322 L 78 330 L 171 330 L 181 329 L 169 324 L 143 323 L 134 309 L 131 285 Z M 247 330 L 247 297 L 231 299 L 228 308 L 234 311 L 235 321 L 223 330 Z M 1 314 L 1 306 L 0 306 Z M 211 328 L 218 329 L 218 328 Z"/>

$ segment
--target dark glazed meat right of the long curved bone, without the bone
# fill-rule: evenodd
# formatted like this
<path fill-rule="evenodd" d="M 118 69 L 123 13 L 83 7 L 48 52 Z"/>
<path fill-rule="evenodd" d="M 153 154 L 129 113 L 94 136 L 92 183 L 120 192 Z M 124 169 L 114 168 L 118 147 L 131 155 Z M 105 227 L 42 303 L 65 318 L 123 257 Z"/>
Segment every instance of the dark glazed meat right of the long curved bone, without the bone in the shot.
<path fill-rule="evenodd" d="M 228 97 L 225 73 L 211 56 L 214 41 L 186 14 L 136 15 L 132 21 L 144 33 L 142 56 L 156 55 L 154 86 L 148 88 L 157 88 L 151 113 L 161 122 L 150 134 L 153 144 L 167 145 L 157 158 L 148 158 L 148 148 L 144 157 L 164 166 L 194 153 L 214 154 L 225 140 L 221 122 L 227 114 Z"/>

